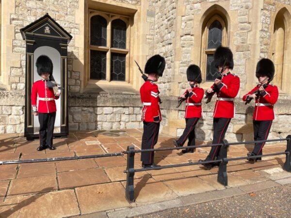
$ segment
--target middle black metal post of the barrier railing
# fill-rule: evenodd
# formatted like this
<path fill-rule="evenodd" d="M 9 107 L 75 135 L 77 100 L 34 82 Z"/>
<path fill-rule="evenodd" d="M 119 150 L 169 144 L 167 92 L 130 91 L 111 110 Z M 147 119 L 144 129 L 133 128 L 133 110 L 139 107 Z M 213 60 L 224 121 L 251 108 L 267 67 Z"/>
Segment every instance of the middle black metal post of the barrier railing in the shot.
<path fill-rule="evenodd" d="M 217 173 L 217 182 L 220 184 L 227 186 L 227 172 L 226 172 L 226 164 L 228 163 L 227 160 L 227 147 L 228 142 L 227 140 L 223 140 L 223 145 L 220 148 L 219 156 L 221 157 L 222 162 L 219 163 L 219 169 Z"/>

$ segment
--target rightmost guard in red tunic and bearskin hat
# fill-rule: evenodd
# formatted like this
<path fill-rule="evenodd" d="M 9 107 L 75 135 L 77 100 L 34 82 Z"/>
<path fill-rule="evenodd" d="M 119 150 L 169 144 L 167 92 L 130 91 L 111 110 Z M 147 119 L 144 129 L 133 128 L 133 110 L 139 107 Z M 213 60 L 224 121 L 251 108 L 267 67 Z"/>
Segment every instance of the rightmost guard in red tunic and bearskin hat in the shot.
<path fill-rule="evenodd" d="M 271 125 L 275 119 L 274 104 L 278 99 L 278 88 L 269 83 L 274 78 L 275 66 L 269 59 L 261 59 L 257 64 L 256 77 L 259 79 L 259 85 L 249 93 L 243 95 L 243 101 L 256 99 L 253 115 L 254 140 L 267 140 Z M 262 149 L 265 142 L 255 143 L 254 150 L 247 156 L 262 155 Z M 248 158 L 250 161 L 261 160 L 261 157 Z"/>

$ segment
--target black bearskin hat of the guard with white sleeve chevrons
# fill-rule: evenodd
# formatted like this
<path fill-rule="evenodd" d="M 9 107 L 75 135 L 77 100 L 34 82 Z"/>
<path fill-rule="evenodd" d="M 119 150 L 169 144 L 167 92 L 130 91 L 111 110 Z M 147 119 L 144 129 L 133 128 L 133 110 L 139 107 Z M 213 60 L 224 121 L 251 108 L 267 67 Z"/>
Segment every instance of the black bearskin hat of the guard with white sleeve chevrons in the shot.
<path fill-rule="evenodd" d="M 145 66 L 145 73 L 156 73 L 159 77 L 162 77 L 162 73 L 165 69 L 166 61 L 161 55 L 154 55 L 150 57 Z"/>

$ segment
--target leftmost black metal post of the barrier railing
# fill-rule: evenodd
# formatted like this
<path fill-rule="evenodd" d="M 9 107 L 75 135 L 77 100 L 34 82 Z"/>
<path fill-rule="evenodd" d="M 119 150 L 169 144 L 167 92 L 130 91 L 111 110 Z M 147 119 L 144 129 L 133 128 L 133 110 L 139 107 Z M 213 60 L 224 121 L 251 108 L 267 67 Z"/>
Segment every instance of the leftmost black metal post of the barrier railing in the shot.
<path fill-rule="evenodd" d="M 125 197 L 128 202 L 134 202 L 134 146 L 128 146 L 127 148 L 127 177 L 126 177 L 126 189 Z"/>

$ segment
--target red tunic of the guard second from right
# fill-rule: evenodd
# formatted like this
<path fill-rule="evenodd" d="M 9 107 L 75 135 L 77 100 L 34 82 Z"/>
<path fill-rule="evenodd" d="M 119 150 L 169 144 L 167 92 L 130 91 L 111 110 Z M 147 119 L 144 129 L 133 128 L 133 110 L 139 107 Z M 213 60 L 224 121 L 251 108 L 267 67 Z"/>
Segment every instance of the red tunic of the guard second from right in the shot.
<path fill-rule="evenodd" d="M 213 88 L 213 86 L 211 86 Z M 239 93 L 240 78 L 230 72 L 222 76 L 213 112 L 214 118 L 233 118 L 235 114 L 233 100 Z"/>

